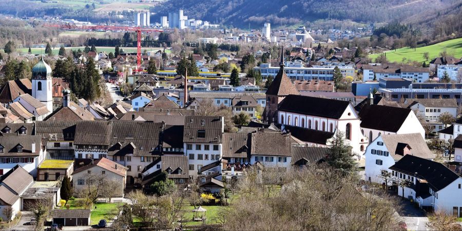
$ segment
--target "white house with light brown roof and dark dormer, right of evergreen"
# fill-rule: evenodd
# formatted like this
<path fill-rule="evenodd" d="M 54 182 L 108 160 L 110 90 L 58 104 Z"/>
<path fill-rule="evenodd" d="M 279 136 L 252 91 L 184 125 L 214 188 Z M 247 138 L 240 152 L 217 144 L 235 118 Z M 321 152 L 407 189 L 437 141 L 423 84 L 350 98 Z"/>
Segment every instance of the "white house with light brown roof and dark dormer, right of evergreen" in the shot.
<path fill-rule="evenodd" d="M 382 134 L 368 145 L 364 152 L 364 180 L 384 183 L 379 176 L 382 170 L 389 168 L 405 155 L 433 159 L 434 154 L 428 148 L 419 133 Z"/>

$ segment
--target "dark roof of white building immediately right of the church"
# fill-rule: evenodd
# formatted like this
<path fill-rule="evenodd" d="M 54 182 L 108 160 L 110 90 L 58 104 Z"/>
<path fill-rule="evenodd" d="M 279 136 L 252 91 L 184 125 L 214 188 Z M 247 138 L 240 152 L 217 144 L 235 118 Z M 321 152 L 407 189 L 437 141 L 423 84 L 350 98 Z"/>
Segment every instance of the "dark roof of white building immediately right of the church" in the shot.
<path fill-rule="evenodd" d="M 397 132 L 408 118 L 411 109 L 382 105 L 366 105 L 359 112 L 361 127 Z M 393 121 L 391 123 L 390 121 Z"/>

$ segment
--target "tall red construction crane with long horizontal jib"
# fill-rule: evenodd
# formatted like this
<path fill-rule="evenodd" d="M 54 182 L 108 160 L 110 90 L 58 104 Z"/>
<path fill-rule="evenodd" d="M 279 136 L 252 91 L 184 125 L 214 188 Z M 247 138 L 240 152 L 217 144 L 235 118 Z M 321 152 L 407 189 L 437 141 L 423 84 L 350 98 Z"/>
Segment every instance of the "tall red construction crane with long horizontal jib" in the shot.
<path fill-rule="evenodd" d="M 160 29 L 128 26 L 108 26 L 108 25 L 75 25 L 75 24 L 43 24 L 46 27 L 56 27 L 64 30 L 122 30 L 137 32 L 137 72 L 143 71 L 141 68 L 141 32 L 163 32 Z"/>

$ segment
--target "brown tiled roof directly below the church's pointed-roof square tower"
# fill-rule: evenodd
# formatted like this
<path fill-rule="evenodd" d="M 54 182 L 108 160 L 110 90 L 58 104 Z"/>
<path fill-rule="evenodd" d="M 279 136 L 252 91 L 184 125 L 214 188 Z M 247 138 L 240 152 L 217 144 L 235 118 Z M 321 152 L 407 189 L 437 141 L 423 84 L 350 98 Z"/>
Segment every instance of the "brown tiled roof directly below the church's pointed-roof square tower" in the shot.
<path fill-rule="evenodd" d="M 291 135 L 281 132 L 253 132 L 251 155 L 292 156 Z"/>

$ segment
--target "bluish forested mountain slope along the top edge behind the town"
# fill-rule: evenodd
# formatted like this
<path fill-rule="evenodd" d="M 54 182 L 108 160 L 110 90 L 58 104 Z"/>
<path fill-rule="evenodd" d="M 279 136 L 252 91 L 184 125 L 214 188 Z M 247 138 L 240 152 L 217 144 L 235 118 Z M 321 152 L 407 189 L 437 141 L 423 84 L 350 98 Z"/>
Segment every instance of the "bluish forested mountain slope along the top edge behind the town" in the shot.
<path fill-rule="evenodd" d="M 246 27 L 263 22 L 293 25 L 329 17 L 362 23 L 390 22 L 457 3 L 459 0 L 169 0 L 153 12 L 163 16 L 183 9 L 189 18 Z"/>

